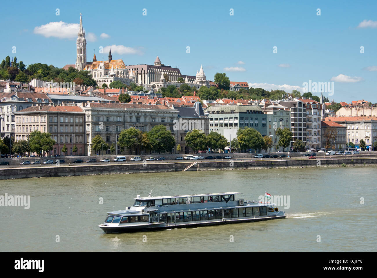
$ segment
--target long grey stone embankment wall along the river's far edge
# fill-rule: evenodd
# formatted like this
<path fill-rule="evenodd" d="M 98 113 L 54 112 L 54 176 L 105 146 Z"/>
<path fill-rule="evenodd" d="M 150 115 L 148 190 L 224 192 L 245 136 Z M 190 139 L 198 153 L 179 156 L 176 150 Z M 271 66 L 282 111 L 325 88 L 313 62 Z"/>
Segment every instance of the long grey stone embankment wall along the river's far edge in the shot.
<path fill-rule="evenodd" d="M 19 179 L 35 177 L 81 176 L 124 173 L 155 173 L 182 171 L 193 162 L 152 162 L 124 164 L 93 165 L 48 165 L 38 167 L 10 167 L 0 169 L 0 179 Z M 284 159 L 284 160 L 242 160 L 242 161 L 198 161 L 187 171 L 208 170 L 244 170 L 258 168 L 290 168 L 290 167 L 331 167 L 377 165 L 377 158 L 339 158 L 339 159 Z"/>

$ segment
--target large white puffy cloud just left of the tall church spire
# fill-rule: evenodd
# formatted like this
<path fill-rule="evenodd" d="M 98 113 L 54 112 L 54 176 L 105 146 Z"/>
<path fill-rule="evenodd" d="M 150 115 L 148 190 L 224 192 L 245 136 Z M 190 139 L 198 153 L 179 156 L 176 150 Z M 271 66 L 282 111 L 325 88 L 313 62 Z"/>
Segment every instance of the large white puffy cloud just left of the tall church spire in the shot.
<path fill-rule="evenodd" d="M 46 38 L 57 37 L 59 39 L 75 39 L 77 37 L 78 28 L 78 23 L 65 23 L 63 21 L 50 22 L 35 27 L 34 34 L 42 35 Z"/>

